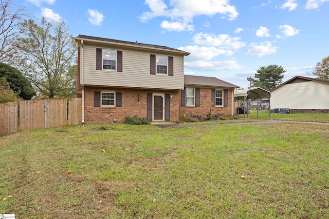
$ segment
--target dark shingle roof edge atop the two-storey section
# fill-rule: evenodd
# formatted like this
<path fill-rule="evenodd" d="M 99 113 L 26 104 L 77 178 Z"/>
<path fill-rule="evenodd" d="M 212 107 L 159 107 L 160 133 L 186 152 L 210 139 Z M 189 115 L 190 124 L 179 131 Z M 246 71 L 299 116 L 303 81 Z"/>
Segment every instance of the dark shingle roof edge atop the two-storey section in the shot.
<path fill-rule="evenodd" d="M 109 39 L 109 38 L 102 38 L 102 37 L 96 37 L 96 36 L 86 36 L 86 35 L 79 35 L 75 37 L 75 39 L 91 39 L 93 41 L 103 41 L 108 43 L 115 43 L 115 44 L 124 44 L 124 45 L 132 45 L 132 46 L 138 46 L 138 47 L 150 47 L 155 49 L 162 49 L 162 50 L 171 50 L 174 52 L 184 53 L 184 55 L 189 55 L 189 52 L 185 52 L 179 49 L 170 48 L 167 46 L 159 46 L 159 45 L 153 45 L 153 44 L 144 44 L 139 42 L 129 42 L 129 41 L 120 41 L 118 39 Z"/>

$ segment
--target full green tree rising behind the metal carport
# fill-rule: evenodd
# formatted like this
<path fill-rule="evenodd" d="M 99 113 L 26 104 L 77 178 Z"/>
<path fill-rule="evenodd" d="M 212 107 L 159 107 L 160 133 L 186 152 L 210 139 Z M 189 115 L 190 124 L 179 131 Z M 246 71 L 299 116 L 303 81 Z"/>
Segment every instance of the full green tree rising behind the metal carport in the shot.
<path fill-rule="evenodd" d="M 281 84 L 284 72 L 286 72 L 286 70 L 284 70 L 282 66 L 262 66 L 257 70 L 257 73 L 255 73 L 253 86 L 271 90 Z"/>

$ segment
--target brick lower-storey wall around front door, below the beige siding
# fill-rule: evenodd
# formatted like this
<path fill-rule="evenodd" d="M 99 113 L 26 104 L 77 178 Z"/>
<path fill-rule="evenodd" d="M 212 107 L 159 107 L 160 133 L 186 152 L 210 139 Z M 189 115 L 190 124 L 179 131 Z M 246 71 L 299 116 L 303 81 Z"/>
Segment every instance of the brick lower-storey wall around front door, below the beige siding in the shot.
<path fill-rule="evenodd" d="M 94 107 L 95 91 L 115 91 L 122 93 L 122 107 Z M 170 100 L 170 120 L 178 120 L 179 91 L 164 90 L 143 90 L 143 89 L 124 89 L 124 88 L 97 88 L 84 87 L 84 122 L 85 123 L 113 123 L 114 118 L 117 122 L 124 122 L 125 116 L 147 117 L 147 94 L 164 93 L 173 95 Z"/>

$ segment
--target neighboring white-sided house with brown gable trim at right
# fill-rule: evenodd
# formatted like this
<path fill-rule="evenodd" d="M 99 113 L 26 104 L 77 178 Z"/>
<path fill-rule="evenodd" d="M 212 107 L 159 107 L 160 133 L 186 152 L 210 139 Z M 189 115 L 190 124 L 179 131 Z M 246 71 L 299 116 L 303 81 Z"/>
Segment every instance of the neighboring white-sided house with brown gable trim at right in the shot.
<path fill-rule="evenodd" d="M 329 112 L 329 81 L 295 76 L 271 91 L 271 110 Z"/>

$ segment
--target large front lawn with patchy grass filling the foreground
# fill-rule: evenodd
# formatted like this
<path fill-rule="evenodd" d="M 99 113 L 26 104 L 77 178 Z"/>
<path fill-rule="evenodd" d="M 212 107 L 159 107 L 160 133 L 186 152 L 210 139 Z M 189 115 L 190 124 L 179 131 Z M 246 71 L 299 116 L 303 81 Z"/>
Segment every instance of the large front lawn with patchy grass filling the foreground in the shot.
<path fill-rule="evenodd" d="M 329 218 L 328 145 L 323 124 L 106 124 L 18 132 L 0 137 L 0 213 Z"/>

